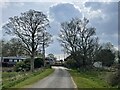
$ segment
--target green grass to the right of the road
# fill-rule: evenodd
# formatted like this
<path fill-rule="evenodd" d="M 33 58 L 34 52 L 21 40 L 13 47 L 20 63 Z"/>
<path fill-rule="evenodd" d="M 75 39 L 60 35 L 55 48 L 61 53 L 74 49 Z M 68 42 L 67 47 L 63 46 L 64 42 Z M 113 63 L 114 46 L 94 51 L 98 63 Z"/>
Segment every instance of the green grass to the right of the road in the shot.
<path fill-rule="evenodd" d="M 110 88 L 104 71 L 69 71 L 78 88 Z"/>

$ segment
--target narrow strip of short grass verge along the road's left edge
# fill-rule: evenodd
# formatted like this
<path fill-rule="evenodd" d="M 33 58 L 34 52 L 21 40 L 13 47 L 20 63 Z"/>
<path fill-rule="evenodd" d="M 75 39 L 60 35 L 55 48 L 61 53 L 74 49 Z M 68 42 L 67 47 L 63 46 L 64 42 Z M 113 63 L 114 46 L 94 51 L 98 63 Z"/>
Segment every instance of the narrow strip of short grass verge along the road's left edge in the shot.
<path fill-rule="evenodd" d="M 44 77 L 53 73 L 53 71 L 54 71 L 53 69 L 45 69 L 43 71 L 31 73 L 27 76 L 23 76 L 23 78 L 13 80 L 13 81 L 10 81 L 10 82 L 4 84 L 3 89 L 4 88 L 22 88 L 26 85 L 33 84 L 33 83 L 43 79 Z"/>

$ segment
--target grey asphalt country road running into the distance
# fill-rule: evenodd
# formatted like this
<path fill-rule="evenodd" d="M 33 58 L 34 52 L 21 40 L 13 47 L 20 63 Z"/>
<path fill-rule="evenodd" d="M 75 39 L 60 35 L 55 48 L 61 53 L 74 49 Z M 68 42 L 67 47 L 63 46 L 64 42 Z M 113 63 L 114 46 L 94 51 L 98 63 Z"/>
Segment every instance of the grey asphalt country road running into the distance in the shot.
<path fill-rule="evenodd" d="M 75 84 L 64 67 L 52 67 L 54 73 L 30 85 L 29 88 L 76 88 Z"/>

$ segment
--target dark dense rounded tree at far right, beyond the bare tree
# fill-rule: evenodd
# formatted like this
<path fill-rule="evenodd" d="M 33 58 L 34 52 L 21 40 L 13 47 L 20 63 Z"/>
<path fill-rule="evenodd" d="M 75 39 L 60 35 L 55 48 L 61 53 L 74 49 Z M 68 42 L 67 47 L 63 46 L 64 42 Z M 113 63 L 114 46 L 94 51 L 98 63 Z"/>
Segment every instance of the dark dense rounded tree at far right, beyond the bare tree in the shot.
<path fill-rule="evenodd" d="M 102 44 L 102 49 L 96 55 L 96 61 L 101 61 L 103 66 L 111 66 L 115 62 L 115 49 L 112 43 Z"/>

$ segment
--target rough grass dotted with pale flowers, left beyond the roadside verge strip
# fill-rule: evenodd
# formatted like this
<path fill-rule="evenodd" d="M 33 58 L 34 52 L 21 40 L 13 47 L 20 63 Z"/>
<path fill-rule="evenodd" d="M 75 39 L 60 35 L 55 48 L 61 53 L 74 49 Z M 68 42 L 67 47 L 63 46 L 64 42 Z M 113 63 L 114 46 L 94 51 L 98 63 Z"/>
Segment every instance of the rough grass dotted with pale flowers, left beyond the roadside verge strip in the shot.
<path fill-rule="evenodd" d="M 16 83 L 22 82 L 32 75 L 31 72 L 3 72 L 2 73 L 2 87 L 9 88 Z"/>

